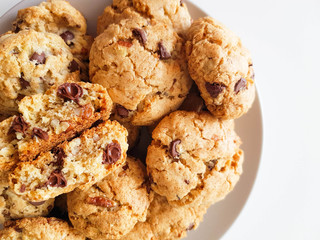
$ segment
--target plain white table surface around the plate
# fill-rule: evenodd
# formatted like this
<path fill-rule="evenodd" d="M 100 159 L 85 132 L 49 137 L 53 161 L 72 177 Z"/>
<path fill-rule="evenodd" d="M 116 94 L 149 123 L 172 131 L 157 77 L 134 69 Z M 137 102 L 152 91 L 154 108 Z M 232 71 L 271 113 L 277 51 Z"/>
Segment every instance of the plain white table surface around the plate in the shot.
<path fill-rule="evenodd" d="M 1 0 L 0 15 L 18 1 Z M 262 104 L 258 177 L 223 240 L 319 240 L 320 1 L 193 2 L 251 50 Z"/>

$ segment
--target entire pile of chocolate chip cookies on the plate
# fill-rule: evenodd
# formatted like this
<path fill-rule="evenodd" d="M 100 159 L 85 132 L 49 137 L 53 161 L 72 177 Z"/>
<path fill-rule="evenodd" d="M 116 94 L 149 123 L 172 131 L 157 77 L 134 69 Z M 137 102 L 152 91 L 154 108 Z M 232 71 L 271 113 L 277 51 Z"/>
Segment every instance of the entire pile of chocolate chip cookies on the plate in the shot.
<path fill-rule="evenodd" d="M 250 54 L 180 0 L 113 0 L 86 32 L 51 0 L 0 36 L 0 239 L 181 239 L 242 173 Z"/>

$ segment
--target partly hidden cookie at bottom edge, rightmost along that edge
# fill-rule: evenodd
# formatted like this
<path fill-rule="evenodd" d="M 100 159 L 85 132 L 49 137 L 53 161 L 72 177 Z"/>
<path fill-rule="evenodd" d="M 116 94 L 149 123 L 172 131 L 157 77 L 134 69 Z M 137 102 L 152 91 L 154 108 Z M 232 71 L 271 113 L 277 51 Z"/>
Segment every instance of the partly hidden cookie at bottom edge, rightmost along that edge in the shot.
<path fill-rule="evenodd" d="M 176 240 L 184 238 L 188 231 L 195 230 L 203 219 L 208 205 L 171 206 L 165 197 L 155 194 L 151 203 L 147 223 L 155 239 Z"/>

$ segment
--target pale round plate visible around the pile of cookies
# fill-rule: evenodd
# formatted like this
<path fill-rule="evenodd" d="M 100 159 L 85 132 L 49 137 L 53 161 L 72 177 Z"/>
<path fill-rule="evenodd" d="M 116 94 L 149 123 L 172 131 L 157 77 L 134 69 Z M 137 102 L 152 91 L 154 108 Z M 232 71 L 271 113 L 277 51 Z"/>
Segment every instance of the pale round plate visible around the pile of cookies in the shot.
<path fill-rule="evenodd" d="M 38 5 L 41 0 L 24 0 L 7 11 L 0 18 L 0 33 L 8 31 L 17 11 L 33 5 Z M 69 0 L 80 10 L 88 21 L 88 33 L 95 36 L 97 17 L 103 9 L 112 3 L 112 0 Z M 203 10 L 193 3 L 186 1 L 193 19 L 208 16 Z M 248 200 L 251 189 L 259 168 L 262 151 L 262 115 L 258 93 L 250 111 L 236 120 L 236 131 L 240 135 L 245 152 L 244 173 L 235 189 L 225 200 L 211 206 L 196 231 L 191 231 L 186 240 L 215 240 L 220 239 L 230 228 Z"/>

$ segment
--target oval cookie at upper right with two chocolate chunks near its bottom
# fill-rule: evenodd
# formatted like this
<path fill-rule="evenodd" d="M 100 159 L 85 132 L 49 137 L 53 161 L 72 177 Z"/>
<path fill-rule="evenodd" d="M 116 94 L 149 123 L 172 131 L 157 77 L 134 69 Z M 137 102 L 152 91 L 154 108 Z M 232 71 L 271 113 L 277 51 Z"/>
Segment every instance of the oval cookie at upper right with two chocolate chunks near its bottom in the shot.
<path fill-rule="evenodd" d="M 187 38 L 189 72 L 209 111 L 223 119 L 245 114 L 255 86 L 251 56 L 240 38 L 210 17 L 195 21 Z"/>

